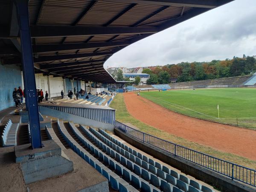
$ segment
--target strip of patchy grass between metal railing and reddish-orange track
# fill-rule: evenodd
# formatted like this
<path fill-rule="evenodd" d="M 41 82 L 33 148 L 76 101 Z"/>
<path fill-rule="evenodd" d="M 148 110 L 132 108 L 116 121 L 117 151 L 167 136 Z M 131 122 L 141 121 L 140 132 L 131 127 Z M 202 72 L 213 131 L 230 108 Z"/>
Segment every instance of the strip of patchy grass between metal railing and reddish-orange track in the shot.
<path fill-rule="evenodd" d="M 164 140 L 171 141 L 173 143 L 176 143 L 178 145 L 183 145 L 185 147 L 194 149 L 196 151 L 200 151 L 205 154 L 212 155 L 214 157 L 218 157 L 223 160 L 227 160 L 242 166 L 249 167 L 251 169 L 256 169 L 256 161 L 249 160 L 244 157 L 240 157 L 235 154 L 230 154 L 230 153 L 225 153 L 222 151 L 217 151 L 213 148 L 204 146 L 204 145 L 199 145 L 197 143 L 185 140 L 181 137 L 177 137 L 175 135 L 166 133 L 164 131 L 161 131 L 157 128 L 151 127 L 149 125 L 146 125 L 143 122 L 140 122 L 139 120 L 135 119 L 133 116 L 128 113 L 126 110 L 125 102 L 122 93 L 117 93 L 115 99 L 111 102 L 110 105 L 111 108 L 116 109 L 116 120 L 119 122 L 129 122 L 136 126 L 137 128 L 140 128 L 140 131 L 143 131 L 147 134 L 154 135 L 155 137 L 159 137 Z"/>

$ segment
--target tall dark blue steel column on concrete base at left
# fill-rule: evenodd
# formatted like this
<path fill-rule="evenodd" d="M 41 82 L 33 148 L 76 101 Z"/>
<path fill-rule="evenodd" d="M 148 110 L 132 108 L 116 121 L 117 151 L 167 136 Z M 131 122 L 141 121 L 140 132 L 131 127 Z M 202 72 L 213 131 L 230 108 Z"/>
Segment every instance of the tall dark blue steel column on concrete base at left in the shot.
<path fill-rule="evenodd" d="M 32 148 L 41 148 L 41 131 L 38 112 L 38 101 L 35 85 L 34 61 L 32 55 L 31 36 L 29 29 L 28 0 L 16 0 L 20 25 L 21 55 L 23 63 L 26 103 L 29 112 L 29 124 Z"/>

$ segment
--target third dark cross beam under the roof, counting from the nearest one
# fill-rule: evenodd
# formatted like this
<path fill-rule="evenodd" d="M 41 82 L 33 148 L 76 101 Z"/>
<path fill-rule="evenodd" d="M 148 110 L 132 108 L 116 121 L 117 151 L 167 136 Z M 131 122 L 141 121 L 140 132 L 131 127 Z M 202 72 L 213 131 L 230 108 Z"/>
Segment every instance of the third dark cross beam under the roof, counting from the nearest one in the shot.
<path fill-rule="evenodd" d="M 50 56 L 41 56 L 39 58 L 34 58 L 34 63 L 47 62 L 47 61 L 56 61 L 64 59 L 74 59 L 82 57 L 93 57 L 100 55 L 112 55 L 113 52 L 93 52 L 93 53 L 82 53 L 82 54 L 68 54 L 68 55 L 50 55 Z"/>

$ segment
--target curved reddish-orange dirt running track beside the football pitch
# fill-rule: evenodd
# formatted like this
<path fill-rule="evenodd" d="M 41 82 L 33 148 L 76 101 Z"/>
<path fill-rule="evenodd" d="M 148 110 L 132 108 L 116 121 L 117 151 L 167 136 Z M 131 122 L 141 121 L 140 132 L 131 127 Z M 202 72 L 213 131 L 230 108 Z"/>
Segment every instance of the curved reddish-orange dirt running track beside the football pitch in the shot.
<path fill-rule="evenodd" d="M 255 130 L 181 115 L 136 93 L 124 93 L 124 100 L 131 116 L 147 125 L 219 151 L 256 160 Z"/>

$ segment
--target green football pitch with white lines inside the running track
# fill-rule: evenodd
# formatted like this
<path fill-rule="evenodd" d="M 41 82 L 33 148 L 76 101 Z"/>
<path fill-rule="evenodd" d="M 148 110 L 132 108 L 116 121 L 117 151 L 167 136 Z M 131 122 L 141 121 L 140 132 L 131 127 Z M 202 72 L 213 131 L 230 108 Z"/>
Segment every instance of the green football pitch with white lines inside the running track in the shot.
<path fill-rule="evenodd" d="M 256 129 L 253 88 L 150 91 L 140 95 L 178 113 Z"/>

